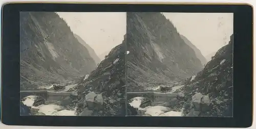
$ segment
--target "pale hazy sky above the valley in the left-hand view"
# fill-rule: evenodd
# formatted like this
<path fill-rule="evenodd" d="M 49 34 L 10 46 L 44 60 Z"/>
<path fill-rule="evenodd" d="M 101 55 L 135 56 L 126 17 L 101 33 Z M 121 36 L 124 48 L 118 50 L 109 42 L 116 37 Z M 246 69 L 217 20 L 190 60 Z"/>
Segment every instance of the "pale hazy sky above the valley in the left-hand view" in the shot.
<path fill-rule="evenodd" d="M 99 56 L 121 44 L 126 33 L 125 12 L 57 12 L 73 33 Z"/>

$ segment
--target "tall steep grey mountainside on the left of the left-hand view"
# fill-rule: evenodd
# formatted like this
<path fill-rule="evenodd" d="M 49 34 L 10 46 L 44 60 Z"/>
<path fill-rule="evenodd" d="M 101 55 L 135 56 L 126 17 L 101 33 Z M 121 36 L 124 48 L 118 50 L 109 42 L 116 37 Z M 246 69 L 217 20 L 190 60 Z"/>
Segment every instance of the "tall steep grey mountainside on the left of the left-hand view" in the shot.
<path fill-rule="evenodd" d="M 54 12 L 20 13 L 20 89 L 65 83 L 89 74 L 96 63 Z"/>

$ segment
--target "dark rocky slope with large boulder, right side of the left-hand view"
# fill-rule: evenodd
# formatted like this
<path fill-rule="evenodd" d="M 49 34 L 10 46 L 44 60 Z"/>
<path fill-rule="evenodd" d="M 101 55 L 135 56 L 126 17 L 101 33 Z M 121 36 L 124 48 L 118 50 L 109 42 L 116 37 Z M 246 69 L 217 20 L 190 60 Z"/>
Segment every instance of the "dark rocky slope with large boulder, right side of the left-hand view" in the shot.
<path fill-rule="evenodd" d="M 125 37 L 124 37 L 125 39 Z M 77 86 L 80 108 L 91 116 L 125 116 L 125 40 L 114 47 L 86 80 Z M 86 113 L 84 112 L 86 109 Z"/>

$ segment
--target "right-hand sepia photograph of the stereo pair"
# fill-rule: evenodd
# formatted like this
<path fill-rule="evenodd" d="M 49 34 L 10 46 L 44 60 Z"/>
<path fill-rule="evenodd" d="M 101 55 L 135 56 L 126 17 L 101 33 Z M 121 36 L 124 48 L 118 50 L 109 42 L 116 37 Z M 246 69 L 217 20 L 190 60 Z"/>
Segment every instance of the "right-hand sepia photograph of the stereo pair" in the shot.
<path fill-rule="evenodd" d="M 233 116 L 233 14 L 127 12 L 127 115 Z"/>

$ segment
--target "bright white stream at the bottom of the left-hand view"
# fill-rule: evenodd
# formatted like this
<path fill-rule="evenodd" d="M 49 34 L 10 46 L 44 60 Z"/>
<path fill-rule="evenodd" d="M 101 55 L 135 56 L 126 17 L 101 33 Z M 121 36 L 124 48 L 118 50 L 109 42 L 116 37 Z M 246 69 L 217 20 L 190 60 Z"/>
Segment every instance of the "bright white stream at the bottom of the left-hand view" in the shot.
<path fill-rule="evenodd" d="M 71 110 L 61 110 L 63 107 L 58 105 L 39 105 L 37 107 L 33 106 L 34 100 L 37 96 L 30 95 L 25 97 L 25 101 L 23 104 L 31 107 L 32 109 L 39 109 L 38 112 L 44 113 L 47 116 L 76 116 L 75 109 L 74 111 Z"/>

